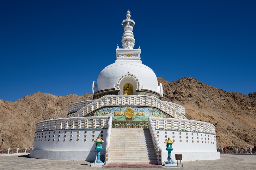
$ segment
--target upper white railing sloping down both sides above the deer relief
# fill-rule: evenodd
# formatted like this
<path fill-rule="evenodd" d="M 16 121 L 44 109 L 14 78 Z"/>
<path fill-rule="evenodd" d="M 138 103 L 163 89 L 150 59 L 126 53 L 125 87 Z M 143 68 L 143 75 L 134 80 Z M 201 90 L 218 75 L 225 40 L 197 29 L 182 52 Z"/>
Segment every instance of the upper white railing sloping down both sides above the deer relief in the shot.
<path fill-rule="evenodd" d="M 185 115 L 175 110 L 170 104 L 157 99 L 154 96 L 140 96 L 140 95 L 106 95 L 100 99 L 96 99 L 89 105 L 86 105 L 76 113 L 68 115 L 68 117 L 82 117 L 91 113 L 92 111 L 104 106 L 124 106 L 124 105 L 140 105 L 153 106 L 164 113 L 177 119 L 187 119 Z"/>

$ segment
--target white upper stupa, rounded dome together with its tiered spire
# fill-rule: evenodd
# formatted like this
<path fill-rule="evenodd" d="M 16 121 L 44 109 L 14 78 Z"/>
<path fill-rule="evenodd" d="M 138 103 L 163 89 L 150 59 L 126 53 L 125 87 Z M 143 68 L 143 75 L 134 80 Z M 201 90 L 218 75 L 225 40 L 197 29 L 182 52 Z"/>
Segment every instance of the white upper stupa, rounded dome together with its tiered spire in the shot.
<path fill-rule="evenodd" d="M 131 20 L 131 13 L 127 11 L 126 20 L 123 20 L 124 34 L 122 37 L 123 48 L 116 49 L 116 62 L 105 67 L 97 79 L 97 84 L 93 82 L 93 94 L 97 99 L 99 93 L 109 90 L 120 91 L 124 94 L 124 85 L 130 83 L 133 88 L 131 94 L 139 92 L 149 92 L 154 96 L 162 97 L 162 84 L 158 86 L 157 77 L 152 69 L 143 65 L 140 60 L 141 49 L 134 49 L 135 38 L 133 36 L 133 26 L 135 22 Z M 139 92 L 138 92 L 139 91 Z M 138 93 L 136 93 L 138 92 Z"/>

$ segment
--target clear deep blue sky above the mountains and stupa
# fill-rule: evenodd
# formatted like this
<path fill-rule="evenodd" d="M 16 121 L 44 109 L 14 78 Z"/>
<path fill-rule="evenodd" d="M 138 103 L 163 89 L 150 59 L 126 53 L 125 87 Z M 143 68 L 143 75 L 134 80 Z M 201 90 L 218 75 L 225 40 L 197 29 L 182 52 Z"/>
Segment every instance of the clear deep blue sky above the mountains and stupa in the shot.
<path fill-rule="evenodd" d="M 256 91 L 256 1 L 0 1 L 0 99 L 92 93 L 115 62 L 126 11 L 157 77 Z"/>

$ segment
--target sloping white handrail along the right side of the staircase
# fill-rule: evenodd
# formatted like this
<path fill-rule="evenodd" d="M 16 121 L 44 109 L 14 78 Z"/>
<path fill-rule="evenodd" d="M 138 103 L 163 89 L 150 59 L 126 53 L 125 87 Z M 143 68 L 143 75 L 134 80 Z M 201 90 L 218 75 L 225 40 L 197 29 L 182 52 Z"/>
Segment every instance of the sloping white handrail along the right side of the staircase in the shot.
<path fill-rule="evenodd" d="M 157 134 L 155 132 L 155 127 L 154 127 L 151 117 L 149 117 L 149 132 L 150 132 L 153 144 L 154 144 L 157 163 L 158 163 L 158 165 L 162 165 L 162 148 L 161 148 L 159 139 L 157 138 Z"/>

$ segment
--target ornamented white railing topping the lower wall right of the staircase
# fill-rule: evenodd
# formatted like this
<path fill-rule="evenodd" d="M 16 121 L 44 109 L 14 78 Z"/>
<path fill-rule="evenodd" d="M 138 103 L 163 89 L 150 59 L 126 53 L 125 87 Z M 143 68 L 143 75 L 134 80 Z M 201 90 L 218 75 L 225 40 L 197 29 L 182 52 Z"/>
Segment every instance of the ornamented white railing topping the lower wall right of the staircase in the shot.
<path fill-rule="evenodd" d="M 150 118 L 154 124 L 155 129 L 164 130 L 179 130 L 179 131 L 190 131 L 197 133 L 211 133 L 216 134 L 215 126 L 210 123 L 184 120 L 184 119 L 172 119 L 172 118 Z"/>

